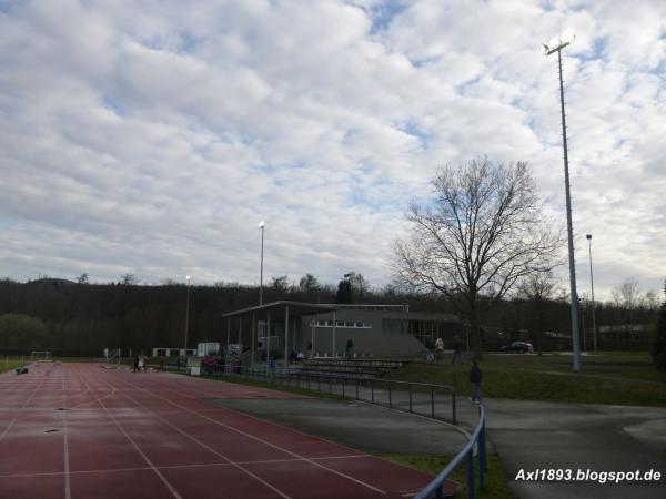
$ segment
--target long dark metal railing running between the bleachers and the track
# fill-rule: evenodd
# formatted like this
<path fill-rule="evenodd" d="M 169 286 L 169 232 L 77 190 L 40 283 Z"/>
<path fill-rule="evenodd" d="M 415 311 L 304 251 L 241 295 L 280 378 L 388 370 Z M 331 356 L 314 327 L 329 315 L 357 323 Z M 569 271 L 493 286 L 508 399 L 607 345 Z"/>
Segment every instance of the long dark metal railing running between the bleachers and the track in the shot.
<path fill-rule="evenodd" d="M 202 373 L 205 375 L 205 373 Z M 240 376 L 265 383 L 327 393 L 366 401 L 389 409 L 417 414 L 432 419 L 457 424 L 455 387 L 427 383 L 396 381 L 372 377 L 302 373 L 276 368 L 274 373 L 261 368 L 225 368 L 212 376 Z"/>

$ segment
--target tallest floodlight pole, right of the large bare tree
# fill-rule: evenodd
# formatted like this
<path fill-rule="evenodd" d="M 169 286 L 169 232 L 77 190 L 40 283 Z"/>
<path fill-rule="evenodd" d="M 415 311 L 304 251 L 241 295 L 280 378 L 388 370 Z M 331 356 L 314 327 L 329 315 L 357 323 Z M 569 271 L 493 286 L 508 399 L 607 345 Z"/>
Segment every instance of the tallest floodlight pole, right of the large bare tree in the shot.
<path fill-rule="evenodd" d="M 562 145 L 564 147 L 564 190 L 566 194 L 566 227 L 568 232 L 569 284 L 572 293 L 572 336 L 574 349 L 574 370 L 581 370 L 581 330 L 578 323 L 578 304 L 576 293 L 576 266 L 574 262 L 574 231 L 572 227 L 572 197 L 568 180 L 568 151 L 566 145 L 566 118 L 564 114 L 564 83 L 562 81 L 562 49 L 567 47 L 576 37 L 563 34 L 543 45 L 544 55 L 557 52 L 559 68 L 559 104 L 562 109 Z"/>

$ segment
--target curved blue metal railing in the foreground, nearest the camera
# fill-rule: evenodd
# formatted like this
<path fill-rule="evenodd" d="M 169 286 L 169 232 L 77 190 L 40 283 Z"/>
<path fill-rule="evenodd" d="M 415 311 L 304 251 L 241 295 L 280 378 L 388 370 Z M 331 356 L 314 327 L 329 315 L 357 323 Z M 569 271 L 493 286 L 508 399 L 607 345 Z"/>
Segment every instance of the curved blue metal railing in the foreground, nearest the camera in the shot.
<path fill-rule="evenodd" d="M 457 454 L 457 456 L 431 481 L 414 499 L 442 499 L 444 497 L 444 481 L 453 470 L 467 458 L 467 498 L 474 499 L 476 489 L 474 485 L 474 446 L 477 448 L 478 456 L 478 485 L 484 487 L 484 472 L 486 470 L 486 446 L 485 446 L 485 410 L 478 406 L 478 425 L 472 434 L 467 445 Z"/>

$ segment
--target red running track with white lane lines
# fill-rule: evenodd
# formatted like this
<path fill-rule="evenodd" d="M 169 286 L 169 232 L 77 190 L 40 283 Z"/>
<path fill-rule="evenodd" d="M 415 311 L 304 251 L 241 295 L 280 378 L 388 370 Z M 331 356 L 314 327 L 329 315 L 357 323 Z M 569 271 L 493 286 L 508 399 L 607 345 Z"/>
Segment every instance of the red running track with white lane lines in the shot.
<path fill-rule="evenodd" d="M 0 376 L 0 498 L 403 498 L 432 477 L 210 404 L 292 398 L 95 364 Z"/>

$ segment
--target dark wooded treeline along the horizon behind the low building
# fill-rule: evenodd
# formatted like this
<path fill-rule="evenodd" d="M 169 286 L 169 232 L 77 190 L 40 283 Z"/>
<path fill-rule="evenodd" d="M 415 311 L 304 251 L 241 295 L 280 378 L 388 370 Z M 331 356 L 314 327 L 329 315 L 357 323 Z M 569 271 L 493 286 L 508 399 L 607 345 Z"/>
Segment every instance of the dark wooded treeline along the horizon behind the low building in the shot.
<path fill-rule="evenodd" d="M 405 293 L 396 286 L 367 287 L 356 293 L 362 288 L 352 285 L 349 277 L 343 277 L 337 287 L 314 286 L 312 275 L 304 278 L 310 282 L 309 287 L 300 286 L 301 282 L 286 288 L 265 287 L 265 302 L 400 303 L 410 305 L 412 310 L 455 313 L 448 299 L 441 295 Z M 486 328 L 494 326 L 504 330 L 506 340 L 537 342 L 541 332 L 568 333 L 567 296 L 549 293 L 552 289 L 541 294 L 518 289 L 511 298 L 494 302 L 482 296 L 477 302 L 480 322 Z M 220 316 L 256 305 L 258 299 L 255 286 L 191 286 L 190 344 L 224 338 Z M 103 347 L 178 347 L 184 340 L 185 306 L 184 284 L 83 285 L 59 279 L 29 283 L 4 279 L 0 281 L 0 349 L 44 348 L 72 354 L 97 352 L 99 355 Z M 614 302 L 597 304 L 597 324 L 624 324 L 629 310 L 622 308 L 622 304 L 620 308 L 617 306 Z M 656 310 L 646 306 L 645 301 L 637 303 L 630 313 L 636 324 L 649 323 L 656 316 Z M 591 315 L 584 313 L 583 317 L 589 330 Z"/>

